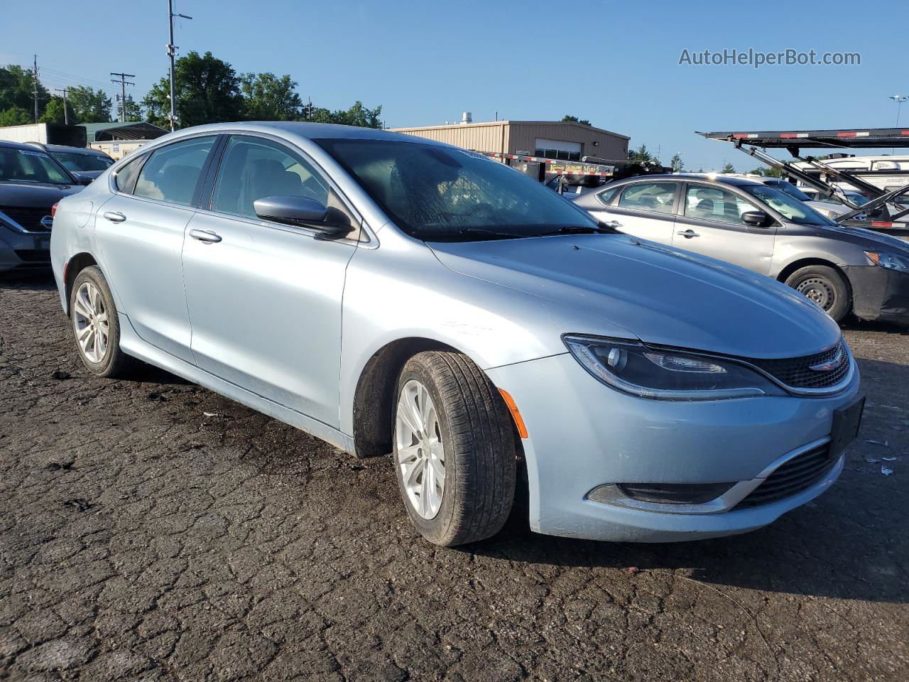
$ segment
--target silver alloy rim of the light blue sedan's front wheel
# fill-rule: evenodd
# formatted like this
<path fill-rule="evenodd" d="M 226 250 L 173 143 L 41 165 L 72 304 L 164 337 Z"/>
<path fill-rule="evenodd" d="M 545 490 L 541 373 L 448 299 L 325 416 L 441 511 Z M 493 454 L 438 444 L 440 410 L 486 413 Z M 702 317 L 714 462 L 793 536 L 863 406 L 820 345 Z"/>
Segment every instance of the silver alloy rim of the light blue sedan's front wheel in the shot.
<path fill-rule="evenodd" d="M 445 493 L 445 447 L 433 399 L 416 379 L 398 396 L 395 446 L 407 500 L 420 517 L 434 518 Z"/>

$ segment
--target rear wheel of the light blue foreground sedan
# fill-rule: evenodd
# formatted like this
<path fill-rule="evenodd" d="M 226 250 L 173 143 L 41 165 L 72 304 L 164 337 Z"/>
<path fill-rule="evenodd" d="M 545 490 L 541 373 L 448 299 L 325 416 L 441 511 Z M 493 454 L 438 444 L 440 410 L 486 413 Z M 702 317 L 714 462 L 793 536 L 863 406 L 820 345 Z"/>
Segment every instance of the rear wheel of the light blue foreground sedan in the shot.
<path fill-rule="evenodd" d="M 139 364 L 120 350 L 120 320 L 114 297 L 97 266 L 86 267 L 75 277 L 69 314 L 75 346 L 92 374 L 124 376 Z"/>

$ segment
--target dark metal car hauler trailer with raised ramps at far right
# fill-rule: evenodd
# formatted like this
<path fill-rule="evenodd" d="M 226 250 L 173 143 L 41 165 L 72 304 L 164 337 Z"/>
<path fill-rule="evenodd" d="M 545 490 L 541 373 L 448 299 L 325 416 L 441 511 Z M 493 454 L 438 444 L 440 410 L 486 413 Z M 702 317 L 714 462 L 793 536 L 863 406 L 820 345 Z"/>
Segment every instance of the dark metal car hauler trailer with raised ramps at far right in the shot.
<path fill-rule="evenodd" d="M 802 155 L 803 149 L 874 149 L 909 146 L 909 129 L 853 128 L 843 130 L 770 130 L 698 133 L 709 140 L 727 142 L 739 151 L 778 169 L 790 180 L 814 187 L 820 196 L 839 201 L 849 207 L 848 213 L 836 218 L 837 223 L 867 227 L 903 239 L 909 239 L 909 170 L 847 170 L 824 163 L 812 155 Z M 766 153 L 766 149 L 785 149 L 795 162 L 783 161 Z M 874 176 L 903 176 L 904 185 L 893 190 L 869 182 Z M 853 186 L 871 201 L 859 206 L 838 191 L 840 186 Z M 864 214 L 870 219 L 860 220 Z"/>

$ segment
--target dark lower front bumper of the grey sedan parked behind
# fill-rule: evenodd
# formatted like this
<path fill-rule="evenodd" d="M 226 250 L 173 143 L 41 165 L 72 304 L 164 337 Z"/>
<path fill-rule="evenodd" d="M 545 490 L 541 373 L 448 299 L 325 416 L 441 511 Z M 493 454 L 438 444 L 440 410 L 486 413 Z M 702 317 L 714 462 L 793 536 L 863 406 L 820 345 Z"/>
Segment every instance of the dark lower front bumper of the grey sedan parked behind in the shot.
<path fill-rule="evenodd" d="M 909 273 L 879 266 L 844 266 L 853 312 L 863 320 L 909 326 Z"/>

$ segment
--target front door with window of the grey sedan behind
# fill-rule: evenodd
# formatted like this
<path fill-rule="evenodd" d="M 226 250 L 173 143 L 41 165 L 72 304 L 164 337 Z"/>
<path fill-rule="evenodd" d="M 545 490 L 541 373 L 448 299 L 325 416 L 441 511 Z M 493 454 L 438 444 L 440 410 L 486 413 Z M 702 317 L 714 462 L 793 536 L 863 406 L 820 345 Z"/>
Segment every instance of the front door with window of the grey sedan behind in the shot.
<path fill-rule="evenodd" d="M 766 211 L 743 196 L 714 185 L 687 183 L 673 246 L 770 273 L 778 226 L 745 225 L 742 214 Z"/>

